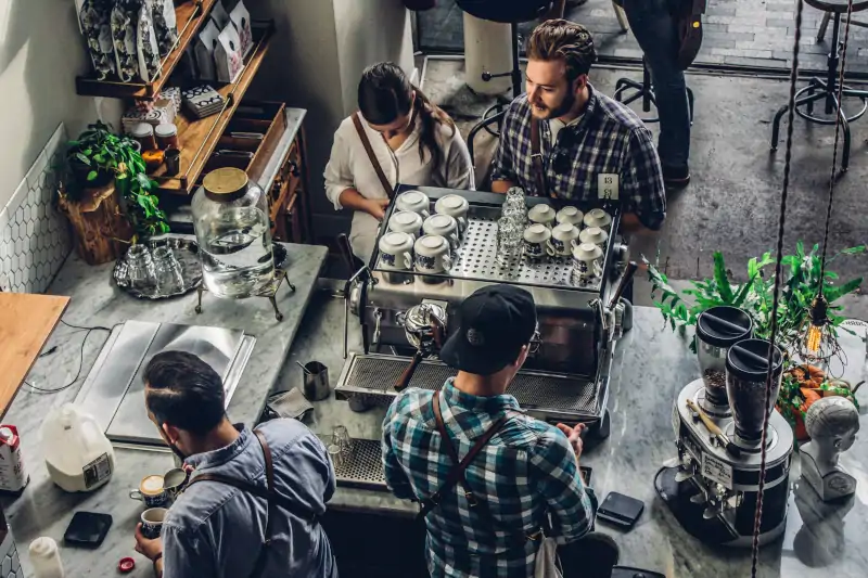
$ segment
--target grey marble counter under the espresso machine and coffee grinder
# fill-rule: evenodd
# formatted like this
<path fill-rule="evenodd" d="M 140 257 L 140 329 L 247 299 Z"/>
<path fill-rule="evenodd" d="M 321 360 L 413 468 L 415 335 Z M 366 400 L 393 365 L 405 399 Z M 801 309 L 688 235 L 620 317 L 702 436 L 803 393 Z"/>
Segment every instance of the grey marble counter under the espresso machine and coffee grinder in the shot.
<path fill-rule="evenodd" d="M 318 298 L 319 299 L 319 298 Z M 637 307 L 635 326 L 617 348 L 609 411 L 611 437 L 588 447 L 583 465 L 593 468 L 592 486 L 600 499 L 618 491 L 640 499 L 646 509 L 637 525 L 628 531 L 615 529 L 604 522 L 597 529 L 612 535 L 621 547 L 621 564 L 664 573 L 669 578 L 690 576 L 750 576 L 750 550 L 712 548 L 689 536 L 658 498 L 653 479 L 662 464 L 676 454 L 671 425 L 672 403 L 680 389 L 699 376 L 695 357 L 687 343 L 664 329 L 660 313 L 652 308 Z M 349 349 L 361 350 L 359 331 L 350 319 Z M 842 336 L 847 347 L 850 365 L 843 377 L 860 381 L 864 344 L 852 336 Z M 293 371 L 292 361 L 317 360 L 330 370 L 332 385 L 343 367 L 343 301 L 320 300 L 311 307 L 305 326 L 293 346 L 285 371 Z M 301 371 L 301 370 L 298 370 Z M 840 373 L 839 373 L 840 374 Z M 292 380 L 284 380 L 292 383 Z M 859 391 L 863 406 L 868 406 L 868 391 Z M 310 427 L 321 435 L 334 426 L 347 426 L 350 436 L 376 439 L 385 410 L 354 413 L 348 404 L 330 398 L 315 403 Z M 863 412 L 863 428 L 868 418 Z M 863 438 L 865 436 L 863 435 Z M 868 552 L 868 442 L 864 439 L 841 463 L 858 478 L 852 503 L 838 509 L 826 524 L 803 524 L 803 517 L 816 517 L 825 506 L 812 501 L 812 490 L 799 484 L 799 460 L 793 460 L 790 483 L 796 487 L 790 498 L 787 531 L 761 551 L 757 576 L 762 578 L 812 578 L 865 576 Z M 807 491 L 804 491 L 807 490 Z M 416 504 L 391 494 L 339 488 L 330 508 L 348 511 L 379 512 L 412 516 Z M 825 560 L 822 564 L 817 561 Z"/>

